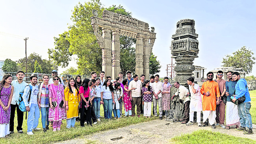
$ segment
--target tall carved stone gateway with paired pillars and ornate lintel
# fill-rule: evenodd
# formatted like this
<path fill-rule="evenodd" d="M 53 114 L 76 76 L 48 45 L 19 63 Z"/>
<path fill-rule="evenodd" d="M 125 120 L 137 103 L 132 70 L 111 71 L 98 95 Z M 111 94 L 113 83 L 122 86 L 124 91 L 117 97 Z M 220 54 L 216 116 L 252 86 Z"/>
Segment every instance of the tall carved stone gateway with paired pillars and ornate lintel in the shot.
<path fill-rule="evenodd" d="M 93 10 L 93 15 L 91 25 L 102 49 L 102 71 L 105 71 L 105 76 L 116 78 L 121 71 L 119 36 L 123 35 L 136 38 L 135 74 L 140 76 L 144 73 L 145 78 L 149 79 L 149 57 L 156 39 L 154 27 L 149 31 L 147 23 L 107 10 L 103 11 L 102 18 L 98 17 L 96 10 Z"/>

